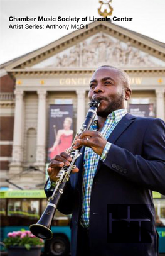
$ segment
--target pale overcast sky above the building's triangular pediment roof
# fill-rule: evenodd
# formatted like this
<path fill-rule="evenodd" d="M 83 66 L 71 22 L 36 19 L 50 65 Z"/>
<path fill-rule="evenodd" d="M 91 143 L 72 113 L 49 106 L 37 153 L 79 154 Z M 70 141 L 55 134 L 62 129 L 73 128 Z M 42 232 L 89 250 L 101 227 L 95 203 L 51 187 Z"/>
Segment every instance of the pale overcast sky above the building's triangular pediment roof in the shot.
<path fill-rule="evenodd" d="M 103 0 L 107 3 L 109 0 Z M 0 0 L 1 23 L 0 23 L 0 64 L 12 60 L 26 53 L 37 50 L 40 47 L 54 42 L 61 36 L 65 36 L 74 30 L 65 29 L 46 29 L 46 25 L 71 25 L 75 21 L 50 21 L 38 22 L 38 16 L 63 18 L 77 17 L 100 17 L 98 8 L 99 0 Z M 114 8 L 112 19 L 127 17 L 133 18 L 132 21 L 112 21 L 115 25 L 128 28 L 142 35 L 149 36 L 165 43 L 165 15 L 164 0 L 112 0 L 110 3 Z M 102 8 L 106 8 L 106 4 Z M 36 21 L 9 21 L 9 17 L 36 18 Z M 89 19 L 89 18 L 88 18 Z M 78 22 L 90 23 L 88 22 Z M 9 25 L 23 25 L 23 29 L 12 29 Z M 41 25 L 43 29 L 26 29 L 25 24 Z"/>

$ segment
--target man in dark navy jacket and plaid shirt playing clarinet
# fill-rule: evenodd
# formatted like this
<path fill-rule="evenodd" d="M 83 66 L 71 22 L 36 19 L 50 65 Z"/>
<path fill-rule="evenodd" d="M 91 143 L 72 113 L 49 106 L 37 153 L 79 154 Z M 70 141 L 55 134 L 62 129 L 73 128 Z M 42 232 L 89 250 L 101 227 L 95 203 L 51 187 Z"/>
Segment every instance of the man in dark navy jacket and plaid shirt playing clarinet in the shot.
<path fill-rule="evenodd" d="M 127 113 L 128 75 L 111 66 L 98 68 L 88 97 L 100 106 L 90 130 L 77 136 L 76 168 L 58 210 L 72 214 L 72 256 L 158 256 L 152 191 L 165 194 L 165 124 Z M 45 192 L 72 158 L 51 160 Z"/>

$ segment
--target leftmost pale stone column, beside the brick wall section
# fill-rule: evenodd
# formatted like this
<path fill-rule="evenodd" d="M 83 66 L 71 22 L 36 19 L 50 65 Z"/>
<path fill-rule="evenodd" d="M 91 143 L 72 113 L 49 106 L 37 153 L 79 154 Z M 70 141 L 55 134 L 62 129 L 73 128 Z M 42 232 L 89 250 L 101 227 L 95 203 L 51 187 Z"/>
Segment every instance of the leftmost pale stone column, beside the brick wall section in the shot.
<path fill-rule="evenodd" d="M 15 113 L 14 113 L 14 134 L 13 134 L 13 152 L 10 166 L 21 166 L 23 162 L 23 95 L 21 90 L 14 91 L 15 94 Z"/>

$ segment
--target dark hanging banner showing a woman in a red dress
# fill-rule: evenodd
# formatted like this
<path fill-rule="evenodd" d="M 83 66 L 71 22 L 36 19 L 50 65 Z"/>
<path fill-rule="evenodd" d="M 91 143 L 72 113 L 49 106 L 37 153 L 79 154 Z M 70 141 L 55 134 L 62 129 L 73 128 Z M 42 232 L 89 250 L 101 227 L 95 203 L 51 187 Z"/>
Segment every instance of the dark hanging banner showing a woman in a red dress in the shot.
<path fill-rule="evenodd" d="M 73 141 L 73 105 L 51 104 L 49 119 L 48 161 L 65 152 Z"/>

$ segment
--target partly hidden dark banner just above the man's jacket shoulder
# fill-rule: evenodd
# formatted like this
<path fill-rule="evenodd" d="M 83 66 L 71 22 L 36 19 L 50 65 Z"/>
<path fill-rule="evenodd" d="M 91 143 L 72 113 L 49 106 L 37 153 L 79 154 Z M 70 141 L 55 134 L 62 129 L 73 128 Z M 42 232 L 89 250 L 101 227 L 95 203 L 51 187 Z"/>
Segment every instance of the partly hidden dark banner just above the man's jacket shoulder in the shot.
<path fill-rule="evenodd" d="M 154 118 L 156 116 L 153 104 L 129 104 L 129 113 L 133 114 L 133 116 L 147 118 Z"/>

